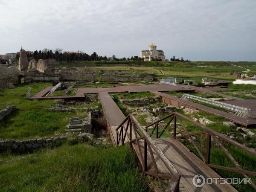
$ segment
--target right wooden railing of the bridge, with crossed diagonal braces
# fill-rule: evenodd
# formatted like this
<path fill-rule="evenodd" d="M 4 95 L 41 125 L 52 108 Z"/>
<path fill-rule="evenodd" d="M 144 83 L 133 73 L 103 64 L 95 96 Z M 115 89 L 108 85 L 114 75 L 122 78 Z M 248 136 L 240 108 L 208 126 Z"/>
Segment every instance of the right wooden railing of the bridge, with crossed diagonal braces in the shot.
<path fill-rule="evenodd" d="M 183 125 L 183 123 L 180 121 L 180 118 L 191 122 L 192 124 L 202 128 L 204 131 L 201 132 L 197 132 L 197 133 L 189 133 L 189 131 L 186 129 L 186 127 Z M 170 120 L 169 120 L 170 119 Z M 164 120 L 169 120 L 166 123 L 164 123 L 164 127 L 163 127 L 163 122 Z M 168 126 L 170 125 L 170 123 L 173 121 L 173 132 L 170 132 L 167 130 Z M 181 127 L 184 129 L 185 131 L 185 135 L 182 136 L 176 136 L 177 134 L 177 122 L 180 123 Z M 241 173 L 245 178 L 249 179 L 249 176 L 256 176 L 256 172 L 252 172 L 252 171 L 247 171 L 244 170 L 239 163 L 235 160 L 235 158 L 227 151 L 227 149 L 224 147 L 223 143 L 229 143 L 233 146 L 236 146 L 240 149 L 242 149 L 243 151 L 248 152 L 249 154 L 253 155 L 256 157 L 256 151 L 252 148 L 248 148 L 244 145 L 242 145 L 241 143 L 238 143 L 234 140 L 231 140 L 229 137 L 224 136 L 223 134 L 220 134 L 216 131 L 213 131 L 210 128 L 207 128 L 204 125 L 201 125 L 198 122 L 193 121 L 192 119 L 190 119 L 187 116 L 184 116 L 180 113 L 174 112 L 166 117 L 164 117 L 163 119 L 160 119 L 156 122 L 151 123 L 150 125 L 147 125 L 146 128 L 146 132 L 148 132 L 148 128 L 153 126 L 153 130 L 151 131 L 151 133 L 148 133 L 150 137 L 152 137 L 152 135 L 154 135 L 155 133 L 155 137 L 156 138 L 160 138 L 164 132 L 166 132 L 167 134 L 169 134 L 170 137 L 174 137 L 175 139 L 180 139 L 180 138 L 185 138 L 188 137 L 189 140 L 191 141 L 192 145 L 195 147 L 196 151 L 198 152 L 199 156 L 201 157 L 201 159 L 204 161 L 205 164 L 207 164 L 207 166 L 211 167 L 211 168 L 216 168 L 216 169 L 223 169 L 223 170 L 227 170 L 227 171 L 231 171 L 231 172 L 237 172 L 237 173 Z M 160 131 L 159 134 L 159 129 L 162 129 L 162 132 Z M 202 134 L 207 134 L 206 137 L 206 141 L 207 141 L 207 147 L 206 147 L 206 155 L 204 156 L 203 153 L 199 150 L 198 146 L 196 145 L 195 141 L 193 140 L 192 136 L 196 136 L 196 135 L 202 135 Z M 215 144 L 218 145 L 220 147 L 220 149 L 224 152 L 224 154 L 230 159 L 231 162 L 234 163 L 234 165 L 236 166 L 235 168 L 230 168 L 230 167 L 226 167 L 226 166 L 219 166 L 219 165 L 214 165 L 214 164 L 210 164 L 210 154 L 211 154 L 211 146 L 212 146 L 212 139 L 213 141 L 215 141 Z M 224 141 L 224 142 L 221 142 Z M 253 186 L 254 189 L 256 189 L 256 185 L 255 183 L 253 183 L 252 180 L 250 180 L 251 185 Z"/>

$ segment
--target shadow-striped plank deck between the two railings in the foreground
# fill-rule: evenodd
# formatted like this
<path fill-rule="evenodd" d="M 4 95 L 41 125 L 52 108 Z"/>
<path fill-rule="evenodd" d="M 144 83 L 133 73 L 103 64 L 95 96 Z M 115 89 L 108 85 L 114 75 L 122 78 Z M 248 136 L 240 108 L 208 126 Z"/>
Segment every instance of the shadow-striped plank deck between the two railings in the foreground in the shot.
<path fill-rule="evenodd" d="M 196 188 L 192 184 L 192 177 L 196 174 L 205 177 L 220 177 L 216 172 L 210 169 L 195 154 L 190 152 L 186 146 L 174 138 L 155 139 L 157 146 L 163 151 L 166 157 L 173 163 L 175 168 L 180 172 L 180 183 L 192 191 L 236 191 L 231 185 L 207 185 L 202 188 Z"/>

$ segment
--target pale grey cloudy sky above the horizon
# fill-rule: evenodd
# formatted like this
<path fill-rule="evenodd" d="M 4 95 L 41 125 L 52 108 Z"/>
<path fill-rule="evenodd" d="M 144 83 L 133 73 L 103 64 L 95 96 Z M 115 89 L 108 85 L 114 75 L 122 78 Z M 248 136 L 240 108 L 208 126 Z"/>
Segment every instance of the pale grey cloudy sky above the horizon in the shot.
<path fill-rule="evenodd" d="M 256 61 L 256 0 L 0 0 L 0 54 L 61 48 L 117 58 Z"/>

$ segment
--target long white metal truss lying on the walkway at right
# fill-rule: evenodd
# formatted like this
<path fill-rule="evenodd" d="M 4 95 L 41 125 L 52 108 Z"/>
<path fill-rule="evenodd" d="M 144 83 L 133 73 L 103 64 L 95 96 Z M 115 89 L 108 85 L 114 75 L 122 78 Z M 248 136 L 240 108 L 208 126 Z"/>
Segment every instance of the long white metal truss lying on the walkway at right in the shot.
<path fill-rule="evenodd" d="M 193 95 L 189 95 L 189 94 L 182 94 L 181 99 L 194 99 L 200 102 L 204 102 L 204 103 L 208 103 L 211 105 L 215 105 L 221 108 L 225 108 L 225 109 L 230 109 L 233 111 L 236 111 L 235 115 L 237 116 L 241 116 L 241 117 L 245 117 L 245 118 L 250 118 L 251 114 L 252 114 L 252 110 L 251 109 L 247 109 L 247 108 L 242 108 L 236 105 L 230 105 L 227 103 L 223 103 L 223 102 L 218 102 L 218 101 L 214 101 L 211 99 L 205 99 L 203 97 L 198 97 L 198 96 L 193 96 Z"/>

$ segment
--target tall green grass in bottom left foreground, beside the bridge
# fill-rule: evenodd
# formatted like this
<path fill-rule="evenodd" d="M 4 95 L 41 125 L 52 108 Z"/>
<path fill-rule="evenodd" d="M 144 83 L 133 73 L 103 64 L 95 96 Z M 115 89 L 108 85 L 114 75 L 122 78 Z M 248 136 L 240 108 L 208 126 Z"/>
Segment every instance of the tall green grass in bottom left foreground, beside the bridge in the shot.
<path fill-rule="evenodd" d="M 146 191 L 128 145 L 110 148 L 63 144 L 33 154 L 0 156 L 1 192 Z"/>

